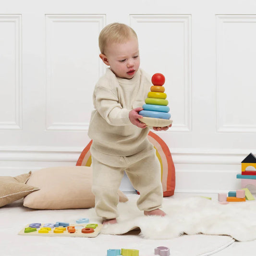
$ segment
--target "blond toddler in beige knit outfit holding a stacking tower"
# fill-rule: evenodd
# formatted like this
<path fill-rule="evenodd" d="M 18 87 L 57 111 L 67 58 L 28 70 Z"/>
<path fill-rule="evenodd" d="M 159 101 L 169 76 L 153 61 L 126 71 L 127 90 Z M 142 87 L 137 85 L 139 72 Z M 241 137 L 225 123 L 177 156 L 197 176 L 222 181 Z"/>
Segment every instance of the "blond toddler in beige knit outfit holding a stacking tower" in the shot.
<path fill-rule="evenodd" d="M 145 215 L 165 216 L 159 209 L 163 197 L 160 164 L 147 139 L 149 128 L 138 120 L 152 84 L 139 68 L 136 33 L 125 24 L 109 24 L 100 32 L 99 49 L 99 57 L 109 68 L 95 86 L 95 110 L 88 131 L 93 140 L 90 151 L 96 213 L 103 224 L 117 222 L 118 189 L 125 171 L 140 192 L 137 207 Z"/>

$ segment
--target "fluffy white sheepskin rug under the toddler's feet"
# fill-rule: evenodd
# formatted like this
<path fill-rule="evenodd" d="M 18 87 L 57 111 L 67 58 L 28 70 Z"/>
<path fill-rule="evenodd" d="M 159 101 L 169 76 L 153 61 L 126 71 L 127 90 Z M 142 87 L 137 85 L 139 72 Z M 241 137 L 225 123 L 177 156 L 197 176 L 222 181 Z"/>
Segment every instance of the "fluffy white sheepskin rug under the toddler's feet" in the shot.
<path fill-rule="evenodd" d="M 175 197 L 175 196 L 174 196 Z M 203 197 L 166 197 L 162 209 L 165 217 L 144 216 L 136 206 L 138 196 L 119 203 L 118 223 L 105 225 L 101 233 L 123 234 L 140 228 L 140 236 L 147 239 L 171 239 L 182 234 L 230 235 L 237 241 L 256 239 L 256 201 L 221 205 Z M 89 218 L 95 219 L 95 209 Z"/>

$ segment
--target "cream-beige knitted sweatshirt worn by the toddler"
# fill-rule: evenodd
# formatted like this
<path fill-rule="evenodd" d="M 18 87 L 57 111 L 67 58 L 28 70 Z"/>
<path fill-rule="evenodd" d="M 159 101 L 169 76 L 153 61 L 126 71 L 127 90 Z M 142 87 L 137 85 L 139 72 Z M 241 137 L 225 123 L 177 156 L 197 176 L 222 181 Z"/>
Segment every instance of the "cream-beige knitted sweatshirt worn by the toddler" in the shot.
<path fill-rule="evenodd" d="M 131 156 L 148 145 L 149 128 L 130 122 L 130 110 L 142 107 L 151 86 L 150 77 L 141 69 L 132 79 L 117 78 L 107 69 L 95 86 L 88 136 L 92 147 L 114 156 Z"/>

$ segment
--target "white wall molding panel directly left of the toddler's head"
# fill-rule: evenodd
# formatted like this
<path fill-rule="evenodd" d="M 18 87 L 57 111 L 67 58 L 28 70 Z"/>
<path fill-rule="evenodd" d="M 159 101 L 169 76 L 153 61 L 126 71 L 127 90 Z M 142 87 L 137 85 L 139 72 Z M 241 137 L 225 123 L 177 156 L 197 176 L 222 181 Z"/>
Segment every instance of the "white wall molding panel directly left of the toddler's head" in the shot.
<path fill-rule="evenodd" d="M 105 71 L 98 58 L 98 37 L 95 36 L 105 26 L 106 15 L 47 14 L 45 18 L 46 129 L 88 130 L 89 114 L 81 117 L 85 114 L 83 110 L 91 109 L 92 105 L 94 81 L 90 81 L 90 77 L 97 80 Z"/>

